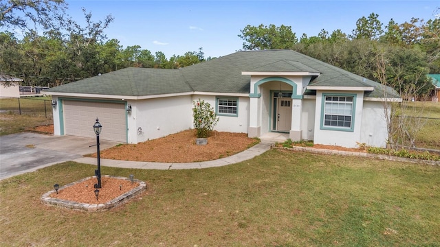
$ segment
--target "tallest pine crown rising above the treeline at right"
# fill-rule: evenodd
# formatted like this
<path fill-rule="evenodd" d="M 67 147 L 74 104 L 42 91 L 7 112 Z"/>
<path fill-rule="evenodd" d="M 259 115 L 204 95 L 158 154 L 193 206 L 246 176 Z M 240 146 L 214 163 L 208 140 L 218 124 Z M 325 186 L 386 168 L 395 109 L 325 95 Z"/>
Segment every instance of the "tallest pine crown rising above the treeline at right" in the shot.
<path fill-rule="evenodd" d="M 377 19 L 378 14 L 371 13 L 368 19 L 365 16 L 356 21 L 356 29 L 353 30 L 353 39 L 378 40 L 383 33 L 382 23 Z"/>

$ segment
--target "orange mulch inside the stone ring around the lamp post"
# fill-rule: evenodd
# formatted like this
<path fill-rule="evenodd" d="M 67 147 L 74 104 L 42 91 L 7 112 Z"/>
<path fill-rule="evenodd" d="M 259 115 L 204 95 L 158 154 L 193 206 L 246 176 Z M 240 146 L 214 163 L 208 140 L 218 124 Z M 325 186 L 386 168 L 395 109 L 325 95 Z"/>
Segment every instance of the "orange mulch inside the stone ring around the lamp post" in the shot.
<path fill-rule="evenodd" d="M 129 180 L 101 176 L 101 188 L 99 189 L 98 200 L 96 200 L 94 192 L 96 183 L 98 183 L 96 178 L 89 178 L 81 183 L 58 190 L 58 194 L 52 193 L 50 197 L 72 202 L 100 204 L 113 200 L 139 186 L 139 183 L 131 183 Z"/>

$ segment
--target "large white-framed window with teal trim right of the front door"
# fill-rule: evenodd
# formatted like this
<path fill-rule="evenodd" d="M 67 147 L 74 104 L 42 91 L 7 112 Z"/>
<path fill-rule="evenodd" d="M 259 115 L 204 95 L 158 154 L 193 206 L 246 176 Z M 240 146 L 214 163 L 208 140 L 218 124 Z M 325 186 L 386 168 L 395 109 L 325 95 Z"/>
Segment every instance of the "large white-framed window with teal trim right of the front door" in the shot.
<path fill-rule="evenodd" d="M 353 96 L 324 95 L 323 127 L 353 128 Z"/>

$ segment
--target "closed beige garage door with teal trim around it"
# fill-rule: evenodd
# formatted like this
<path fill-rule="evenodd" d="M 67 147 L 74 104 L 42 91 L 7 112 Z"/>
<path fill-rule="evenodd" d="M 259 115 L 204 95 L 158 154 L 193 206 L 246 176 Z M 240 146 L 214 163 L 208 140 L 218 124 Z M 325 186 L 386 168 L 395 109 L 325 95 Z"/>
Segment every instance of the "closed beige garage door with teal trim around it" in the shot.
<path fill-rule="evenodd" d="M 96 137 L 94 124 L 102 125 L 100 139 L 126 143 L 125 104 L 63 100 L 65 134 Z"/>

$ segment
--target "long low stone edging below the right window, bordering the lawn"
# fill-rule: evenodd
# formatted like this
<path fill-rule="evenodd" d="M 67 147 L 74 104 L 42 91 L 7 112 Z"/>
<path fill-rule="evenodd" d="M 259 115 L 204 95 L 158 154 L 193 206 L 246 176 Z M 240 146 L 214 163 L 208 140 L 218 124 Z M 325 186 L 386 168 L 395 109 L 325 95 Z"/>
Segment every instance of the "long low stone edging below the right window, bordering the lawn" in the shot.
<path fill-rule="evenodd" d="M 417 163 L 417 164 L 423 163 L 426 165 L 440 166 L 440 161 L 426 161 L 426 160 L 421 160 L 421 159 L 402 158 L 402 157 L 390 156 L 390 155 L 384 155 L 384 154 L 369 154 L 366 152 L 327 150 L 327 149 L 307 148 L 307 147 L 298 147 L 298 146 L 293 146 L 292 148 L 285 148 L 285 147 L 276 147 L 275 145 L 273 145 L 272 148 L 303 151 L 303 152 L 310 152 L 310 153 L 314 153 L 314 154 L 338 154 L 338 155 L 342 155 L 342 156 L 359 156 L 359 157 L 366 157 L 366 158 L 378 158 L 378 159 L 387 160 L 387 161 L 401 161 L 401 162 L 410 162 L 410 163 Z"/>

